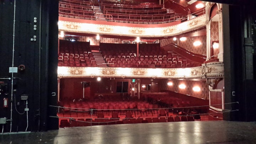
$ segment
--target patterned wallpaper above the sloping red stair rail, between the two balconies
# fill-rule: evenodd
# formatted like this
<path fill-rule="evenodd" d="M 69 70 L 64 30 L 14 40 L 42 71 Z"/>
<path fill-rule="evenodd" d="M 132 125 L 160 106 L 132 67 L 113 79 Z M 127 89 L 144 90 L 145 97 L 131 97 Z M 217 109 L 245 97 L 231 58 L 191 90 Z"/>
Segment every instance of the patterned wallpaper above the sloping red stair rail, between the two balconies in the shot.
<path fill-rule="evenodd" d="M 185 41 L 178 42 L 178 45 L 196 54 L 206 55 L 206 36 L 186 37 Z M 195 41 L 200 41 L 200 46 L 194 46 Z"/>

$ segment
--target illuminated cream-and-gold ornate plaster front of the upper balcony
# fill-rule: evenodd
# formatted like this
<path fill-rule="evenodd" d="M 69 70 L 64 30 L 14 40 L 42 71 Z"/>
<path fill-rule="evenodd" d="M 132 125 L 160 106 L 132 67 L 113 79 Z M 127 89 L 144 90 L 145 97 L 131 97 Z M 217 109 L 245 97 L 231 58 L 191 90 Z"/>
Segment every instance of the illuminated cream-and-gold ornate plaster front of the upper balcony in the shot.
<path fill-rule="evenodd" d="M 90 22 L 83 22 L 83 20 L 80 20 L 81 22 L 72 22 L 72 20 L 73 19 L 70 19 L 70 21 L 59 20 L 59 31 L 110 34 L 118 36 L 164 37 L 182 34 L 183 32 L 193 30 L 194 28 L 206 26 L 206 15 L 192 18 L 191 20 L 187 20 L 177 25 L 165 27 L 158 24 L 155 24 L 154 27 L 129 27 L 129 25 L 116 26 L 111 25 L 113 22 L 111 22 L 110 25 L 100 25 L 97 24 L 97 21 L 92 20 Z"/>

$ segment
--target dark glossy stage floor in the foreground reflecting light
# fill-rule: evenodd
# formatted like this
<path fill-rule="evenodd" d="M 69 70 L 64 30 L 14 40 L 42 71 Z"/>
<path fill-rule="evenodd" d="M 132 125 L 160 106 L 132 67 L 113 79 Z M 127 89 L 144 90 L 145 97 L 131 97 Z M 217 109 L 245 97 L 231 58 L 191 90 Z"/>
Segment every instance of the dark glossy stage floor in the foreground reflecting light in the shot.
<path fill-rule="evenodd" d="M 256 122 L 193 121 L 0 134 L 0 144 L 255 144 Z"/>

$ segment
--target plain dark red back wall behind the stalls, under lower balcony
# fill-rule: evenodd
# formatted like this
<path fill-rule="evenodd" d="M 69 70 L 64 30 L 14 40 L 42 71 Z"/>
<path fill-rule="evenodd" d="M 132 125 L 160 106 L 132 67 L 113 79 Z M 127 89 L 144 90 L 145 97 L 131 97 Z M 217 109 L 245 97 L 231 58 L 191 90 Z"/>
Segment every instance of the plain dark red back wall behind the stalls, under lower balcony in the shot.
<path fill-rule="evenodd" d="M 138 82 L 138 79 L 135 79 Z M 62 78 L 60 79 L 60 100 L 73 100 L 83 97 L 82 81 L 90 82 L 90 87 L 85 88 L 85 99 L 92 100 L 95 95 L 115 95 L 118 81 L 128 81 L 128 92 L 131 88 L 130 82 L 132 79 L 122 78 L 102 78 L 97 81 L 97 78 Z M 141 86 L 143 84 L 151 84 L 151 90 L 148 92 L 159 92 L 159 79 L 140 79 Z M 111 90 L 110 90 L 111 87 Z M 142 89 L 141 89 L 142 90 Z M 142 90 L 143 91 L 143 90 Z M 145 92 L 145 91 L 144 91 Z M 119 94 L 116 94 L 119 95 Z"/>

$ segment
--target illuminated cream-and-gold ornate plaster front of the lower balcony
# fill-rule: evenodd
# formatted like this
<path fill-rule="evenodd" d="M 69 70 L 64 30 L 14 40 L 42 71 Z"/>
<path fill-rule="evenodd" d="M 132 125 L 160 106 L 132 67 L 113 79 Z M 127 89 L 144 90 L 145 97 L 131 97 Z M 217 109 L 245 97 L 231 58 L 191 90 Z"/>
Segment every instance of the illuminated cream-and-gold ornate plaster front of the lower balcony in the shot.
<path fill-rule="evenodd" d="M 159 79 L 190 79 L 202 78 L 203 67 L 180 69 L 150 68 L 105 68 L 105 67 L 58 67 L 58 78 L 159 78 Z"/>

